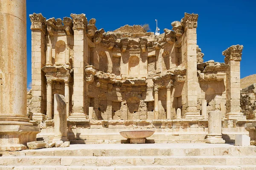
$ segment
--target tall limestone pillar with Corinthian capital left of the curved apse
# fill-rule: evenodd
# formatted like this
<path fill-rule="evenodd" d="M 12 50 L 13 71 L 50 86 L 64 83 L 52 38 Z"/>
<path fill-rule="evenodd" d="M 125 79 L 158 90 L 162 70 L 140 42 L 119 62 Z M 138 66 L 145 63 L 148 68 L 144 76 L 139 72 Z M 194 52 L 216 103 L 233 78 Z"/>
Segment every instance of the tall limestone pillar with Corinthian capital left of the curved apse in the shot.
<path fill-rule="evenodd" d="M 71 14 L 74 30 L 74 85 L 73 85 L 73 110 L 70 120 L 84 120 L 84 91 L 85 91 L 85 52 L 87 19 L 85 14 Z"/>

